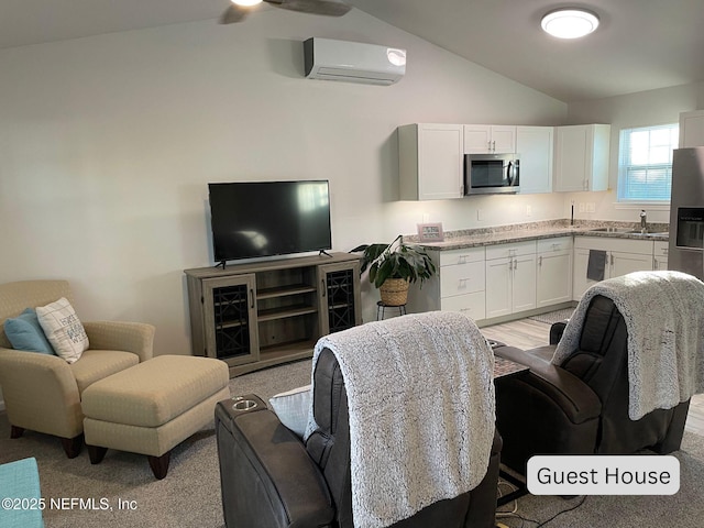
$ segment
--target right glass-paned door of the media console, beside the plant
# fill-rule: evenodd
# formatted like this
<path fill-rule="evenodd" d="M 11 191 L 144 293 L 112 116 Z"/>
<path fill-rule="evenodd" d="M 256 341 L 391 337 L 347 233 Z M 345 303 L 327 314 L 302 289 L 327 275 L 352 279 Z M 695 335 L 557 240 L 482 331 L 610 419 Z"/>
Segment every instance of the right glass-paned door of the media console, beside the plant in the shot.
<path fill-rule="evenodd" d="M 361 324 L 359 263 L 324 264 L 318 266 L 318 273 L 320 333 L 327 336 Z"/>

